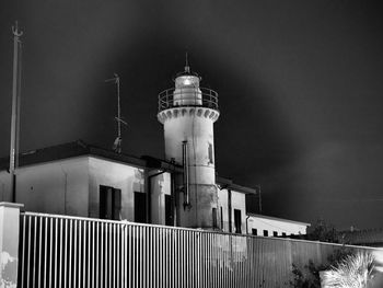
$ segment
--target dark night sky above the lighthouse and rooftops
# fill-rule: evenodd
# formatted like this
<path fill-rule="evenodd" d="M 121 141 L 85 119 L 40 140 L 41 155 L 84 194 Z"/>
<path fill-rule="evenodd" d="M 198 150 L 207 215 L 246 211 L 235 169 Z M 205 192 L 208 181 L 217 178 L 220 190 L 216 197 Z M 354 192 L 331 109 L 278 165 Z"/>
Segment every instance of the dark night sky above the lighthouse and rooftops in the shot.
<path fill-rule="evenodd" d="M 268 215 L 383 228 L 382 12 L 341 0 L 1 1 L 0 153 L 15 19 L 22 151 L 76 139 L 112 147 L 116 99 L 104 79 L 117 72 L 124 152 L 162 158 L 156 95 L 187 50 L 220 95 L 220 175 L 260 184 Z"/>

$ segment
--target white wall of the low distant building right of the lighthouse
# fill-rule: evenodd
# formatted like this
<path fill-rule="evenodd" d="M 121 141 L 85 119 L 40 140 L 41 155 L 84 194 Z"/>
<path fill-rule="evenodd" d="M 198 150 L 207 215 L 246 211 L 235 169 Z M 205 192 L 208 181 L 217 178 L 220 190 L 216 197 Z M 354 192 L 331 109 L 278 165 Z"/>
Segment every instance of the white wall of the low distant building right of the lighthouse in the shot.
<path fill-rule="evenodd" d="M 282 235 L 285 232 L 290 234 L 305 234 L 306 226 L 299 222 L 292 222 L 283 219 L 268 219 L 257 216 L 251 216 L 247 220 L 248 233 L 252 234 L 252 229 L 257 229 L 258 235 L 264 235 L 264 230 L 268 231 L 268 235 L 272 237 L 272 232 L 276 231 L 278 235 Z"/>

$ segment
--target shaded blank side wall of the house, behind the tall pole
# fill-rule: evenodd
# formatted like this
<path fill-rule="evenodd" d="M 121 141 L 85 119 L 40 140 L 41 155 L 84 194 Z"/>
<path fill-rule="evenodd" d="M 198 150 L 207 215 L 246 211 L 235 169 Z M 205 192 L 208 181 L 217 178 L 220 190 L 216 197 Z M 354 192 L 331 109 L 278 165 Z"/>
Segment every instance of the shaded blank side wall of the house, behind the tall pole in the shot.
<path fill-rule="evenodd" d="M 10 191 L 9 183 L 2 171 L 2 195 Z M 88 183 L 86 157 L 22 166 L 16 170 L 16 203 L 28 211 L 88 216 Z"/>

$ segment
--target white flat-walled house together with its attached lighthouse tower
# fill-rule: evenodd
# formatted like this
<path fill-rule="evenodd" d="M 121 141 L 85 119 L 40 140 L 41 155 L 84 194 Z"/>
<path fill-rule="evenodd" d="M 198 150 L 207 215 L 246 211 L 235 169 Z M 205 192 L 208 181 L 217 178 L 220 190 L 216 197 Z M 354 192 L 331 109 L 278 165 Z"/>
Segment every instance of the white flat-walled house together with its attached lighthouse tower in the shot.
<path fill-rule="evenodd" d="M 20 155 L 15 201 L 25 210 L 246 233 L 245 195 L 214 168 L 218 94 L 199 87 L 188 65 L 159 94 L 165 159 L 132 157 L 81 140 Z M 4 159 L 0 197 L 10 201 Z"/>

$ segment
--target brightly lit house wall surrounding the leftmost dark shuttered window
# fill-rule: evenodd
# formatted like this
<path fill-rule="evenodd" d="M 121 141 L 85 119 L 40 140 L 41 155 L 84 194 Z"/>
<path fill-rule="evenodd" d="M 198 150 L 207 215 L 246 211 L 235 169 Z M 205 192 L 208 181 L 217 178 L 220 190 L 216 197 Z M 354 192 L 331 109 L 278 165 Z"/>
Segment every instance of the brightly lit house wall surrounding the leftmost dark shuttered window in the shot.
<path fill-rule="evenodd" d="M 96 157 L 89 158 L 90 217 L 100 217 L 100 185 L 121 189 L 121 219 L 135 221 L 135 192 L 144 193 L 144 171 Z"/>

